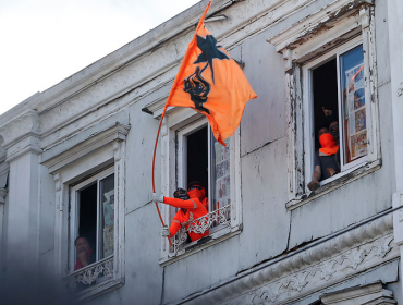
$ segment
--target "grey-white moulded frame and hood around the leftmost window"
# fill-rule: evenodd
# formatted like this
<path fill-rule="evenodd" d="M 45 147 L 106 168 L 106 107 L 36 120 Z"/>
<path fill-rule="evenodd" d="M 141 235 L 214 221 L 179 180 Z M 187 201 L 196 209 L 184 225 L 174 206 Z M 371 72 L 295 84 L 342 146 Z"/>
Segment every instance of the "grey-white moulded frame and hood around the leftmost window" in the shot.
<path fill-rule="evenodd" d="M 80 271 L 96 268 L 98 265 L 113 266 L 112 273 L 108 273 L 107 278 L 72 295 L 72 302 L 86 301 L 124 284 L 125 139 L 130 126 L 113 120 L 112 122 L 110 125 L 101 122 L 81 131 L 83 136 L 61 142 L 58 144 L 60 146 L 56 145 L 54 148 L 42 154 L 41 164 L 47 167 L 49 173 L 53 175 L 56 186 L 54 280 L 58 283 L 59 293 L 65 292 L 66 282 Z M 74 209 L 75 206 L 71 188 L 75 183 L 77 183 L 74 186 L 76 188 L 80 187 L 78 185 L 84 186 L 81 181 L 102 175 L 106 170 L 114 173 L 114 253 L 109 258 L 100 259 L 72 273 L 75 264 L 73 253 L 76 237 L 76 232 L 72 231 L 72 227 L 75 228 L 73 221 L 76 220 L 70 218 L 75 217 L 76 219 L 77 216 L 75 215 L 76 209 L 69 211 L 70 207 Z"/>

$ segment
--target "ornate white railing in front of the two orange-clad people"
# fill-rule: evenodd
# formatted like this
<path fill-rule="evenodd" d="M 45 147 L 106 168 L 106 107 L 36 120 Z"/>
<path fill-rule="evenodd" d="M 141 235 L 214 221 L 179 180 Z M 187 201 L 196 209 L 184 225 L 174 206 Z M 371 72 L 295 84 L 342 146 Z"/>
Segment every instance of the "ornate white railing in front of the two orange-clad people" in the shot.
<path fill-rule="evenodd" d="M 180 251 L 183 249 L 190 232 L 204 234 L 207 230 L 210 230 L 213 227 L 229 224 L 231 222 L 230 212 L 231 205 L 227 205 L 200 218 L 195 219 L 191 222 L 187 229 L 182 228 L 181 230 L 179 230 L 173 239 L 174 254 L 178 254 Z"/>

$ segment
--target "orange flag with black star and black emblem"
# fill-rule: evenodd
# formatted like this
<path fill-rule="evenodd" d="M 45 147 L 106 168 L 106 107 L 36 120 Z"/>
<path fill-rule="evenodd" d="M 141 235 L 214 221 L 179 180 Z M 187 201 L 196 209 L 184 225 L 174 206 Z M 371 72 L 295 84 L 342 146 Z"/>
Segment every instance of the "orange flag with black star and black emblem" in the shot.
<path fill-rule="evenodd" d="M 224 139 L 239 126 L 246 102 L 257 96 L 241 68 L 206 28 L 210 4 L 188 44 L 166 109 L 190 107 L 206 114 L 216 139 L 225 146 Z"/>

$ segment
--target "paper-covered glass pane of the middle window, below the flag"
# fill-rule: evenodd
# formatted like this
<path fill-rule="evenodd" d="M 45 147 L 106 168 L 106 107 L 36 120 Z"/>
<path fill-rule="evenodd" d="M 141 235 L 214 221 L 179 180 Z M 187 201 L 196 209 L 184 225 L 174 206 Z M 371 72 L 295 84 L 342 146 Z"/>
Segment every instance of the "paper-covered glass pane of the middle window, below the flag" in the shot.
<path fill-rule="evenodd" d="M 211 132 L 211 195 L 209 198 L 210 210 L 222 208 L 231 204 L 231 181 L 230 181 L 230 138 L 227 138 L 225 146 L 219 144 Z"/>

